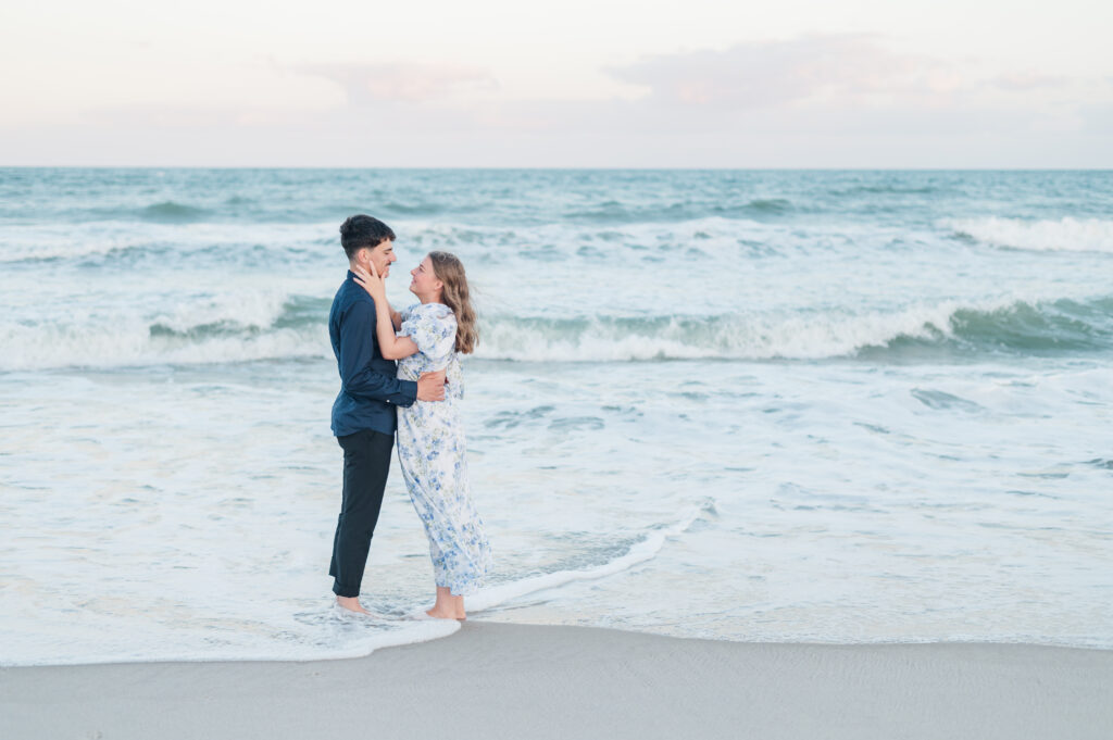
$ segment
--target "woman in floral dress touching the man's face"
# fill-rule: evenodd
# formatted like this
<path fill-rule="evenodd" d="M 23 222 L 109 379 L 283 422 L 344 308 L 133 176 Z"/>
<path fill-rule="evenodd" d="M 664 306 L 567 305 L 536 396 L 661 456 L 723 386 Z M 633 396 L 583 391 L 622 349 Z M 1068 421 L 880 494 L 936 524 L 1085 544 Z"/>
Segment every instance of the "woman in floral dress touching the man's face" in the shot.
<path fill-rule="evenodd" d="M 375 300 L 383 357 L 397 359 L 398 377 L 406 381 L 445 372 L 444 401 L 398 407 L 397 448 L 433 558 L 436 603 L 425 613 L 462 620 L 464 595 L 479 588 L 491 568 L 491 545 L 469 491 L 459 412 L 464 385 L 457 354 L 472 352 L 479 342 L 467 277 L 455 255 L 431 251 L 410 273 L 410 292 L 421 303 L 400 314 L 391 310 L 374 263 L 371 268 L 373 274 L 359 269 L 355 279 Z"/>

